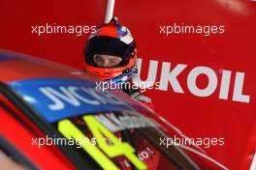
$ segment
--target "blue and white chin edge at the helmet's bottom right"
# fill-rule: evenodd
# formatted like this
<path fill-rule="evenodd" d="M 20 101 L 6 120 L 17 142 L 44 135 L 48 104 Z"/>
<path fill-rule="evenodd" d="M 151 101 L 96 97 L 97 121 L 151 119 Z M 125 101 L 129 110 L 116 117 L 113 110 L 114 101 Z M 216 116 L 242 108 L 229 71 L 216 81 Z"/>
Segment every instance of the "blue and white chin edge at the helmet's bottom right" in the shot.
<path fill-rule="evenodd" d="M 130 71 L 122 73 L 121 75 L 114 77 L 112 79 L 109 79 L 107 81 L 111 84 L 116 83 L 121 85 L 122 83 L 126 83 L 127 81 L 129 81 L 137 72 L 138 72 L 138 69 L 137 69 L 137 66 L 135 66 Z"/>

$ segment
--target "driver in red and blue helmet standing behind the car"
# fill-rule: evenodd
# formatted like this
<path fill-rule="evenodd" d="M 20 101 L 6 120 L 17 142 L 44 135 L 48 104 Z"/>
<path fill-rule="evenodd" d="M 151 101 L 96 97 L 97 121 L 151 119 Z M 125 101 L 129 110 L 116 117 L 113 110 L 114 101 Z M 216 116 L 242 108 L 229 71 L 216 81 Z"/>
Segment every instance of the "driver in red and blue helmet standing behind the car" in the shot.
<path fill-rule="evenodd" d="M 137 73 L 137 48 L 131 32 L 113 17 L 92 33 L 85 43 L 84 71 L 118 84 L 126 94 L 153 109 L 151 99 L 142 95 L 132 77 Z"/>

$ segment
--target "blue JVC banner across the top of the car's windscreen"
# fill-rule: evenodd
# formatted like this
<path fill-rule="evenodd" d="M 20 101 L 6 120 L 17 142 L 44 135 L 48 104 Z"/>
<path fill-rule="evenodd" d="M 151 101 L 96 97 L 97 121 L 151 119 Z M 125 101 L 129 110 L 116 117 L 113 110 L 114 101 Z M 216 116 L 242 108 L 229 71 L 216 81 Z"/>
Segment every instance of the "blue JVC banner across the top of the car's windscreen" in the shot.
<path fill-rule="evenodd" d="M 121 96 L 97 90 L 94 82 L 85 80 L 41 78 L 16 81 L 11 86 L 50 123 L 80 114 L 135 110 Z"/>

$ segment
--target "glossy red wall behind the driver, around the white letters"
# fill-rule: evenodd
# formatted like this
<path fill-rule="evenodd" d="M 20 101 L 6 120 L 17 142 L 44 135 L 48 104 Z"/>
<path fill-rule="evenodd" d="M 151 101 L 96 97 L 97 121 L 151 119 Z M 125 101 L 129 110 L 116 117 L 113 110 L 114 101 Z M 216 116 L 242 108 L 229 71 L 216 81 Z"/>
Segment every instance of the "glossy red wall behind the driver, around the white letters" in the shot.
<path fill-rule="evenodd" d="M 106 1 L 1 1 L 0 46 L 41 56 L 63 64 L 82 68 L 82 47 L 88 34 L 31 34 L 31 26 L 46 23 L 65 25 L 98 25 L 104 20 Z M 230 169 L 247 169 L 255 151 L 255 48 L 256 3 L 243 0 L 196 1 L 117 1 L 115 13 L 120 23 L 132 31 L 138 42 L 138 54 L 143 61 L 142 79 L 147 77 L 149 60 L 158 61 L 156 81 L 160 80 L 162 62 L 186 64 L 178 75 L 184 93 L 148 92 L 157 111 L 190 137 L 225 137 L 222 147 L 206 149 Z M 225 33 L 212 36 L 160 34 L 159 26 L 177 24 L 224 25 Z M 215 71 L 218 82 L 222 71 L 232 71 L 228 99 L 219 99 L 220 83 L 207 98 L 189 92 L 187 76 L 198 66 Z M 244 72 L 242 94 L 250 96 L 248 103 L 232 100 L 236 72 Z M 208 84 L 206 77 L 199 86 Z"/>

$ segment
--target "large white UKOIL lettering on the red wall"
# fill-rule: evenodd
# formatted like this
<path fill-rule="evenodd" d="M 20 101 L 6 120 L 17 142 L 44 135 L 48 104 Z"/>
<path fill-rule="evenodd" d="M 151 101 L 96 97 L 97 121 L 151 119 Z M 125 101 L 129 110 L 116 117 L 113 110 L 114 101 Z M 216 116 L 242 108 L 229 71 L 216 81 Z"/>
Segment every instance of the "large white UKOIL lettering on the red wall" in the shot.
<path fill-rule="evenodd" d="M 143 81 L 140 78 L 142 72 L 142 64 L 143 59 L 138 59 L 138 70 L 139 76 L 134 78 L 134 81 L 137 83 L 142 82 L 150 82 L 151 84 L 155 84 L 156 75 L 158 71 L 158 61 L 150 60 L 149 67 L 147 72 L 147 79 Z M 180 84 L 178 80 L 178 75 L 187 68 L 187 65 L 184 64 L 177 64 L 176 66 L 172 66 L 169 62 L 162 63 L 162 70 L 160 75 L 160 82 L 158 83 L 158 90 L 161 91 L 168 91 L 169 84 L 172 86 L 173 91 L 175 93 L 184 94 L 183 84 Z M 230 93 L 230 86 L 231 86 L 231 75 L 234 74 L 235 77 L 235 84 L 234 84 L 234 91 Z M 205 88 L 200 88 L 197 86 L 196 82 L 198 77 L 204 74 L 208 77 L 208 85 Z M 228 71 L 222 70 L 220 81 L 218 81 L 218 74 L 215 71 L 210 69 L 207 66 L 199 66 L 193 68 L 189 71 L 186 80 L 186 86 L 191 94 L 197 97 L 205 98 L 211 96 L 217 89 L 218 84 L 220 85 L 220 90 L 218 93 L 219 99 L 230 99 L 230 94 L 232 94 L 232 100 L 240 101 L 240 102 L 249 102 L 250 96 L 243 94 L 243 81 L 244 81 L 244 72 L 240 71 Z"/>

